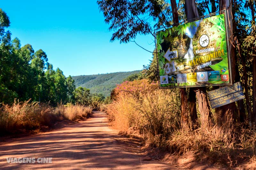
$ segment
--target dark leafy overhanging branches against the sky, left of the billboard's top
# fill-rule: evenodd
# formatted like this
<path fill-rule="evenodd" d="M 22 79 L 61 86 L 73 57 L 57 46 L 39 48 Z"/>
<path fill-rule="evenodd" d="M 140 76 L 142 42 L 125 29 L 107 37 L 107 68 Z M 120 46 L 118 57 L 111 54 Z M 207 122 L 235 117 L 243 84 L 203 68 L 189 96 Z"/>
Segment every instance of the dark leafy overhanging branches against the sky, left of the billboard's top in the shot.
<path fill-rule="evenodd" d="M 100 0 L 97 4 L 109 31 L 114 31 L 111 42 L 128 43 L 138 34 L 154 36 L 154 28 L 170 26 L 172 20 L 170 4 L 165 0 Z"/>

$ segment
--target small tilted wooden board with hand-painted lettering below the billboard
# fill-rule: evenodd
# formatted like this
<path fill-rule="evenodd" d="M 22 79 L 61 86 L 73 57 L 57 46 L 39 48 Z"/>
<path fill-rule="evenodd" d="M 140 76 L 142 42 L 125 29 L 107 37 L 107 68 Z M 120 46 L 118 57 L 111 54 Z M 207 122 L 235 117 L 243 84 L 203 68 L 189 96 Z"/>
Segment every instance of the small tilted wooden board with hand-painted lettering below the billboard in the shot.
<path fill-rule="evenodd" d="M 244 98 L 240 82 L 236 82 L 232 86 L 225 86 L 220 89 L 209 91 L 207 94 L 212 109 Z"/>

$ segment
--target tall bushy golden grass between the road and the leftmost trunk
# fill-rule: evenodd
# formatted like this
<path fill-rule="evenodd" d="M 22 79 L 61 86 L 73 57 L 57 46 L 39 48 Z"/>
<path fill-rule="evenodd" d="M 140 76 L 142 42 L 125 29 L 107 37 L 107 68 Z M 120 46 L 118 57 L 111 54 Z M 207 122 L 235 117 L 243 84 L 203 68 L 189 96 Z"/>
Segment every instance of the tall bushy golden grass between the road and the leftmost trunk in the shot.
<path fill-rule="evenodd" d="M 179 122 L 179 99 L 174 90 L 159 90 L 147 80 L 125 81 L 111 94 L 107 112 L 111 124 L 125 131 L 136 127 L 150 144 L 162 146 Z"/>

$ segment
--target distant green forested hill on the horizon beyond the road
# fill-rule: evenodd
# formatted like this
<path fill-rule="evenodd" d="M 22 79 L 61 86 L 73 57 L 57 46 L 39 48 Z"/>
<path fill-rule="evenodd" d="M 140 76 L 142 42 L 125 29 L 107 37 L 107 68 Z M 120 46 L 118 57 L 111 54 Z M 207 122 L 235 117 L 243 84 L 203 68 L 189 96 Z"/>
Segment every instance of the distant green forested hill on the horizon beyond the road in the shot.
<path fill-rule="evenodd" d="M 110 96 L 110 92 L 116 87 L 116 84 L 122 83 L 129 75 L 140 72 L 141 70 L 95 75 L 79 75 L 73 76 L 72 79 L 75 80 L 76 88 L 86 87 L 90 89 L 91 94 L 101 93 L 107 97 Z"/>

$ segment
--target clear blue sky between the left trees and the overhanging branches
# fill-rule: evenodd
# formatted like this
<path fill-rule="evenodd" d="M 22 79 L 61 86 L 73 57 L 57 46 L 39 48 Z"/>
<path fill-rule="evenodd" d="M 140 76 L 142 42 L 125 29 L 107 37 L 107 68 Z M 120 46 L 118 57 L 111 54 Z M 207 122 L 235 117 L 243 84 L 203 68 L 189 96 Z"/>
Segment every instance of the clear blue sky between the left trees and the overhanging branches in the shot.
<path fill-rule="evenodd" d="M 0 8 L 10 18 L 12 39 L 21 45 L 42 49 L 48 62 L 65 76 L 140 70 L 152 53 L 135 43 L 110 43 L 97 1 L 2 1 Z M 155 47 L 152 35 L 136 38 L 147 50 Z"/>

